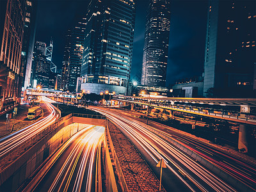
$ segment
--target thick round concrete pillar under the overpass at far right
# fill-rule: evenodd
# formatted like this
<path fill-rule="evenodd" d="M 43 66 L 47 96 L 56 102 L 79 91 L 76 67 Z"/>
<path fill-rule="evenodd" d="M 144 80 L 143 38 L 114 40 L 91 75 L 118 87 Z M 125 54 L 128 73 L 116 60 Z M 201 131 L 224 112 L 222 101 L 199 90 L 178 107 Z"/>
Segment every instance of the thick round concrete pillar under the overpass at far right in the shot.
<path fill-rule="evenodd" d="M 248 152 L 247 132 L 250 127 L 248 125 L 239 125 L 238 150 L 243 153 Z"/>

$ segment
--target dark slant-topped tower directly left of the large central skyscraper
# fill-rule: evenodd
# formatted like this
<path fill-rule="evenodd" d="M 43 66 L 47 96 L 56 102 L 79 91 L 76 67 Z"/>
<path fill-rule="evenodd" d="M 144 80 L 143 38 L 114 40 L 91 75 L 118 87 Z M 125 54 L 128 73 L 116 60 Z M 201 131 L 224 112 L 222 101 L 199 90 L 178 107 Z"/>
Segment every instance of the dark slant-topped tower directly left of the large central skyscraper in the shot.
<path fill-rule="evenodd" d="M 81 19 L 72 29 L 70 55 L 68 62 L 67 90 L 76 91 L 77 77 L 81 76 L 83 58 L 85 18 Z"/>

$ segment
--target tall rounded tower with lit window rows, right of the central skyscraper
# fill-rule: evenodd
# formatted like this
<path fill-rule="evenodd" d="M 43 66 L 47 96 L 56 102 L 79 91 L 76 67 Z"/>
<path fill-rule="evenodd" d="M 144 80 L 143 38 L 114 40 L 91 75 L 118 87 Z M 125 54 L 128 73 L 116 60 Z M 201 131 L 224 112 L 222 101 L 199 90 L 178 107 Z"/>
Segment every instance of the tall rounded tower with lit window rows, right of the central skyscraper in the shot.
<path fill-rule="evenodd" d="M 169 0 L 150 0 L 141 72 L 141 84 L 143 85 L 165 86 L 170 17 Z"/>

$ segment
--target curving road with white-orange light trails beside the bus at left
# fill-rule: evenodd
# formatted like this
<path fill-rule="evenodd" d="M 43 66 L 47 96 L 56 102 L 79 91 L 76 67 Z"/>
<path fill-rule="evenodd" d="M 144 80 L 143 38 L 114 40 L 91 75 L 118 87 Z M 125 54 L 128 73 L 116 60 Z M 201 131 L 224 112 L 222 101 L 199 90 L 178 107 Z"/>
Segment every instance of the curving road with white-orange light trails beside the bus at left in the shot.
<path fill-rule="evenodd" d="M 14 148 L 17 148 L 22 143 L 31 140 L 36 134 L 40 133 L 45 129 L 45 127 L 51 125 L 56 121 L 56 111 L 51 106 L 51 99 L 47 97 L 42 97 L 42 101 L 47 107 L 47 113 L 49 115 L 36 121 L 34 124 L 28 125 L 19 131 L 13 132 L 0 140 L 0 158 L 6 156 L 8 153 L 12 152 Z M 58 118 L 58 115 L 57 115 Z"/>

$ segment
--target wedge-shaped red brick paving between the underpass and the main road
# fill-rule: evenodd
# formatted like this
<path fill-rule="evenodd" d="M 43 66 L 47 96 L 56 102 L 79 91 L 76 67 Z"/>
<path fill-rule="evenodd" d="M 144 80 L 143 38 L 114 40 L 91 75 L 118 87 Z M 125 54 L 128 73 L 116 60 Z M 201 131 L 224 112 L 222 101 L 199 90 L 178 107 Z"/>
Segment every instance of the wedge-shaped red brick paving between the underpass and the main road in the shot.
<path fill-rule="evenodd" d="M 134 145 L 114 124 L 109 122 L 108 126 L 127 187 L 131 191 L 158 191 L 159 180 Z"/>

